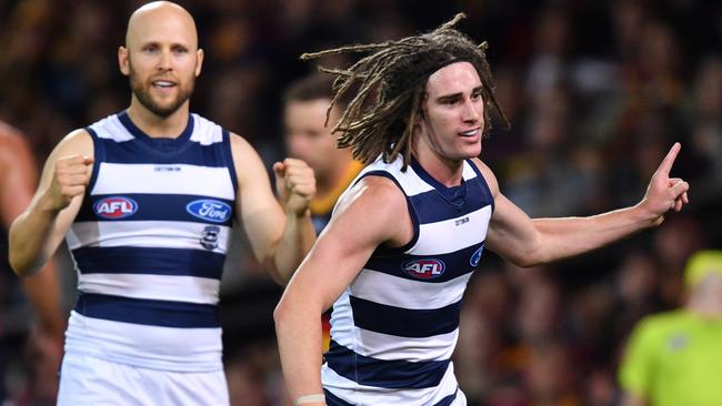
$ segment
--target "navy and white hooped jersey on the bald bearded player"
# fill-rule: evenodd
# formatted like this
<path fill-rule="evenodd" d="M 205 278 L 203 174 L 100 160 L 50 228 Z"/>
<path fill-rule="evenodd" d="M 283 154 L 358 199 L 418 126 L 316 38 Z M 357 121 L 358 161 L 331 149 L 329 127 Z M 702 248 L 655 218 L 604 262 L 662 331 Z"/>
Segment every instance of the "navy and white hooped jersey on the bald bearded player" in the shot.
<path fill-rule="evenodd" d="M 87 130 L 96 163 L 67 235 L 78 302 L 66 351 L 222 369 L 218 301 L 237 191 L 228 131 L 191 114 L 179 138 L 153 139 L 127 112 Z"/>

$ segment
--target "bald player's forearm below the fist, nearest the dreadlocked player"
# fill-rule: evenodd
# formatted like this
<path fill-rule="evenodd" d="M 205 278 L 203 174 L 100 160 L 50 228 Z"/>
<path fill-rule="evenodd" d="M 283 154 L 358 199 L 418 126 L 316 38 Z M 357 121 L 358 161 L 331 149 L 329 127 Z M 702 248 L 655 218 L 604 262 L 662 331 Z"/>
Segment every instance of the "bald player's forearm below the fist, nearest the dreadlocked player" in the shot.
<path fill-rule="evenodd" d="M 311 213 L 287 213 L 285 227 L 273 255 L 273 278 L 285 285 L 315 242 Z"/>

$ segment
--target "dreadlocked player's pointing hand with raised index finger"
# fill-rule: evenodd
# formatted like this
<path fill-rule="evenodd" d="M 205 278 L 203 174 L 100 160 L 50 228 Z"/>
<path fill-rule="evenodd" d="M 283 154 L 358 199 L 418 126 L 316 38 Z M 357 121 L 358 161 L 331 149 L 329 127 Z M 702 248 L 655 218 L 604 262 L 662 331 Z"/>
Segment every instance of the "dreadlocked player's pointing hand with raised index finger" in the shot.
<path fill-rule="evenodd" d="M 660 168 L 652 175 L 644 199 L 640 203 L 640 206 L 645 209 L 655 225 L 664 221 L 664 213 L 668 211 L 674 210 L 679 212 L 684 204 L 690 203 L 686 194 L 690 184 L 680 177 L 670 177 L 670 171 L 681 148 L 679 142 L 672 145 L 670 152 L 662 160 Z"/>

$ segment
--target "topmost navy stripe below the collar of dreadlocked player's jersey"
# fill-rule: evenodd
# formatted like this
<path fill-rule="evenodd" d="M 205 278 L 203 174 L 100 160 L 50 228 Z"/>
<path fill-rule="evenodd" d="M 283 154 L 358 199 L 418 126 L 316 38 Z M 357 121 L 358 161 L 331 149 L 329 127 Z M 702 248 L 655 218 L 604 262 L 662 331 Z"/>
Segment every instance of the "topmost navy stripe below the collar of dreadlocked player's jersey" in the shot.
<path fill-rule="evenodd" d="M 450 204 L 435 190 L 409 196 L 413 209 L 419 213 L 419 222 L 428 224 L 457 219 L 491 204 L 489 199 L 484 196 L 478 177 L 464 184 L 468 185 L 470 191 L 465 199 L 459 201 L 459 204 Z"/>

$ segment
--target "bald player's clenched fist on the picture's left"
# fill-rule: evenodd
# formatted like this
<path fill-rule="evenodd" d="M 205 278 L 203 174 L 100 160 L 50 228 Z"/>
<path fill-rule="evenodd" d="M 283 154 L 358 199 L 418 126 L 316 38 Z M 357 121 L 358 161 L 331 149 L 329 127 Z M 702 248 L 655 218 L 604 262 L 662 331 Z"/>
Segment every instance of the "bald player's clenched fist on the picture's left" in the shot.
<path fill-rule="evenodd" d="M 56 162 L 50 187 L 46 192 L 54 211 L 61 211 L 70 205 L 76 196 L 82 196 L 90 182 L 92 164 L 90 156 L 63 156 Z"/>

